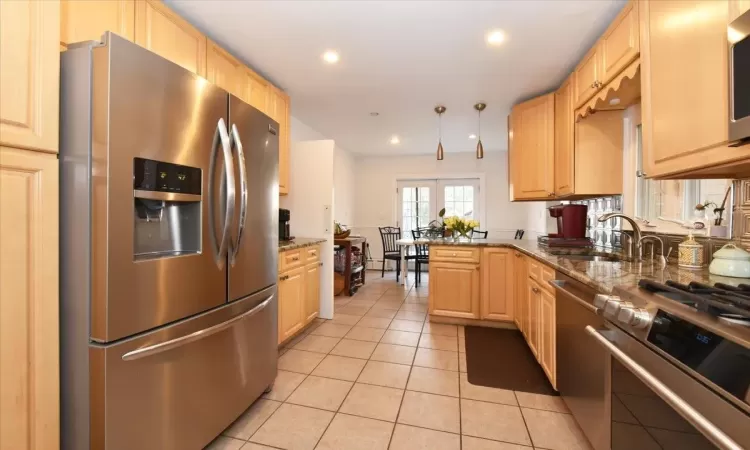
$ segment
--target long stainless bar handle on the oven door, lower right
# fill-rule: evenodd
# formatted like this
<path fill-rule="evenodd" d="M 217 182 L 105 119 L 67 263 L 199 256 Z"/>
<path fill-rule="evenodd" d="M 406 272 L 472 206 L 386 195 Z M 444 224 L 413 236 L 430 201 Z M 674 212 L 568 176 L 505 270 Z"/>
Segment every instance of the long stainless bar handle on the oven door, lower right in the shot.
<path fill-rule="evenodd" d="M 612 356 L 620 361 L 633 375 L 643 381 L 646 386 L 652 389 L 662 400 L 675 409 L 685 420 L 690 422 L 704 436 L 722 450 L 743 450 L 742 446 L 734 442 L 729 436 L 724 434 L 719 428 L 706 419 L 701 413 L 696 411 L 692 406 L 685 402 L 680 396 L 675 394 L 671 389 L 651 375 L 640 364 L 630 358 L 625 352 L 617 348 L 612 342 L 596 331 L 591 325 L 586 326 L 586 332 L 590 334 L 599 344 L 607 349 Z"/>

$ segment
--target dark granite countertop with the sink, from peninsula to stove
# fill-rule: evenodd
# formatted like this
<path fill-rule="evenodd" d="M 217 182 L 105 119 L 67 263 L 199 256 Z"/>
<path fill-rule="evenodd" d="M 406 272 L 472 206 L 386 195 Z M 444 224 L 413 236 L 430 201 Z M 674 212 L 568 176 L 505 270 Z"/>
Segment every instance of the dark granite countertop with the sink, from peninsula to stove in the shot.
<path fill-rule="evenodd" d="M 703 269 L 683 269 L 676 264 L 669 264 L 662 269 L 656 261 L 645 260 L 642 262 L 629 261 L 585 261 L 565 258 L 564 255 L 553 255 L 548 247 L 540 246 L 532 240 L 513 239 L 472 239 L 469 241 L 455 241 L 453 239 L 420 240 L 428 245 L 459 245 L 468 247 L 510 247 L 525 253 L 569 277 L 581 281 L 602 293 L 611 293 L 612 288 L 617 285 L 635 286 L 638 280 L 646 278 L 657 282 L 667 280 L 687 284 L 698 281 L 705 284 L 726 283 L 736 286 L 740 283 L 749 283 L 744 278 L 721 277 L 708 273 L 708 267 Z M 597 253 L 608 253 L 596 249 Z M 565 251 L 556 248 L 555 252 Z M 571 253 L 581 253 L 581 250 L 573 250 Z M 611 253 L 611 252 L 609 252 Z"/>

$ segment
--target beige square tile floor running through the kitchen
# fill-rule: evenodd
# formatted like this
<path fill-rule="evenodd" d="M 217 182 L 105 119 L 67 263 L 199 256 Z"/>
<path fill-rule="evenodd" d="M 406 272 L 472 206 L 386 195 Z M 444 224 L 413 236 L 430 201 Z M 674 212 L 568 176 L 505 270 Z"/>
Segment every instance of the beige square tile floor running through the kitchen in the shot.
<path fill-rule="evenodd" d="M 463 327 L 426 320 L 426 274 L 368 275 L 280 349 L 272 392 L 207 449 L 590 448 L 559 397 L 468 382 Z"/>

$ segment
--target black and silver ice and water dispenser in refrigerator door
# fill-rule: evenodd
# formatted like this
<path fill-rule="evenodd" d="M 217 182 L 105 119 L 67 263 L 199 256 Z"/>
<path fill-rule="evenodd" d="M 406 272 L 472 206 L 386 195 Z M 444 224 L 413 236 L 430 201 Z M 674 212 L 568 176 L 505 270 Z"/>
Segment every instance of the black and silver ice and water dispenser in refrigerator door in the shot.
<path fill-rule="evenodd" d="M 133 160 L 133 259 L 201 252 L 201 169 Z"/>

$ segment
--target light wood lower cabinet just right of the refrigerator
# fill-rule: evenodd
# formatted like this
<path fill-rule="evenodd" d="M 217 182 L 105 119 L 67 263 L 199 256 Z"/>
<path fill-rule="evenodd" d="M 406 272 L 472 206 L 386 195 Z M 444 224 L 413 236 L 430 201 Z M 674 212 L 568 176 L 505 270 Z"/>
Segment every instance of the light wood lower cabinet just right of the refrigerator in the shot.
<path fill-rule="evenodd" d="M 289 250 L 279 255 L 279 344 L 318 317 L 321 265 L 319 255 L 320 246 Z"/>

